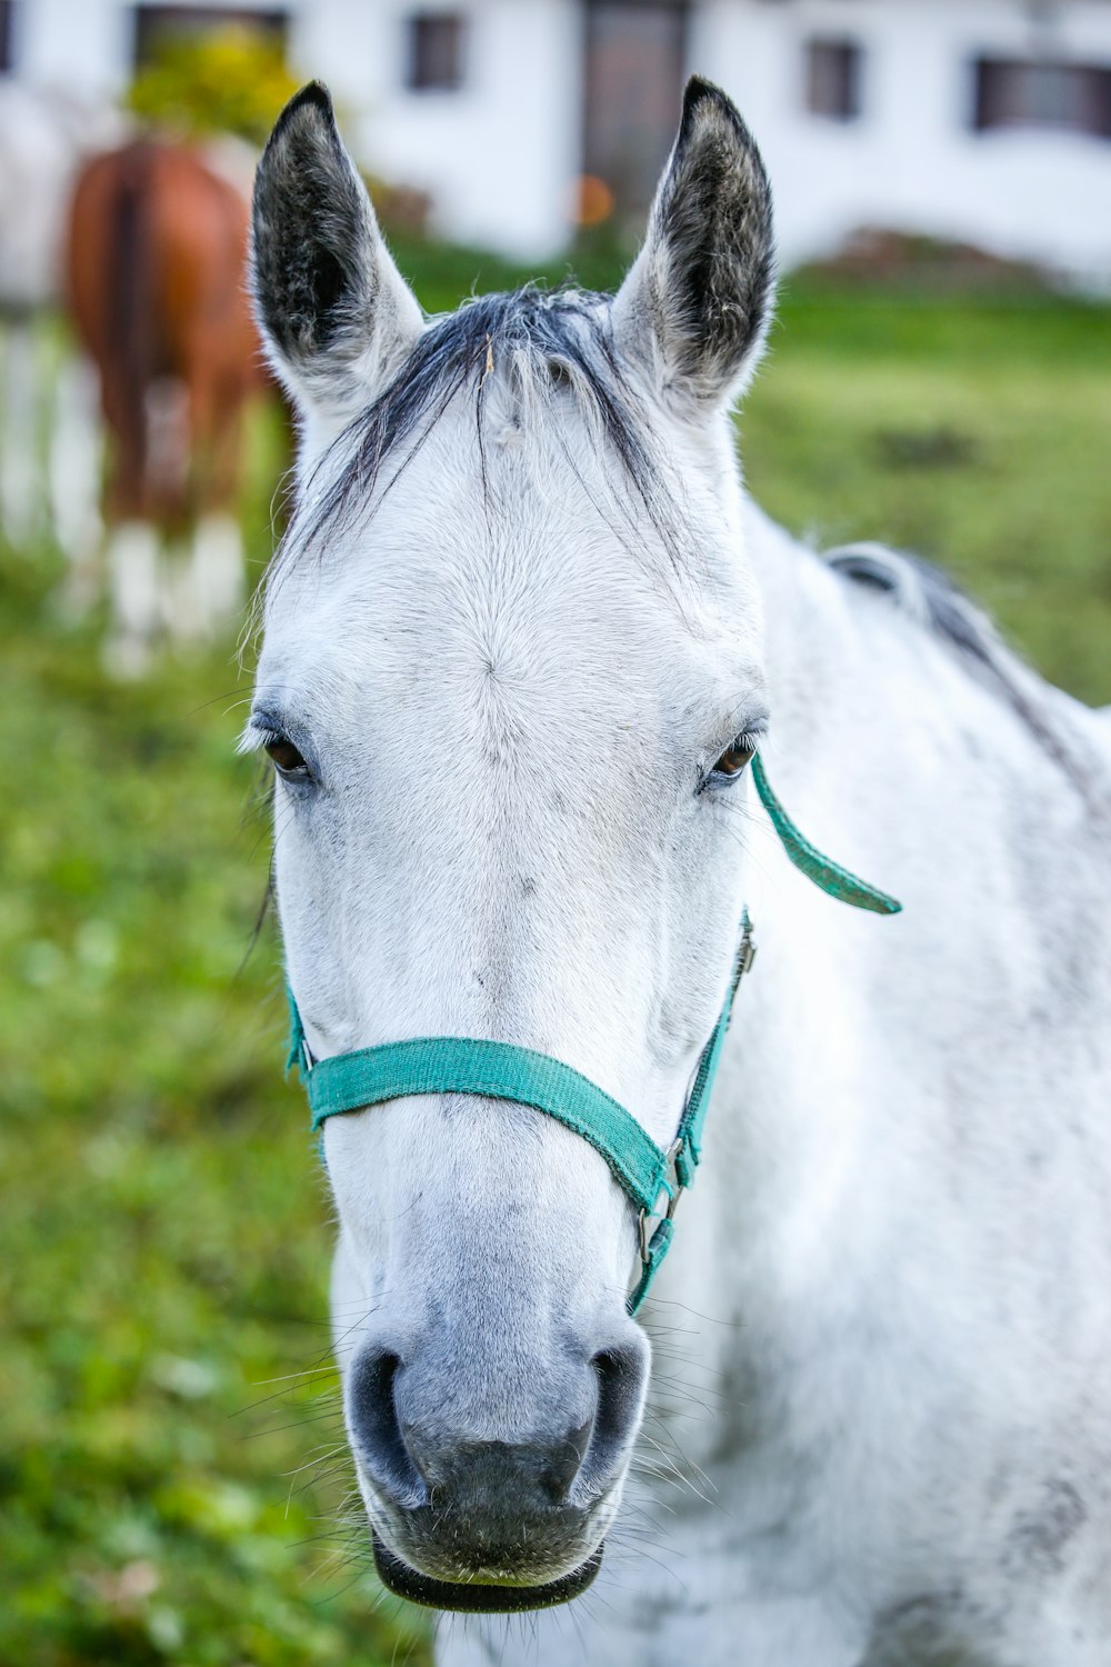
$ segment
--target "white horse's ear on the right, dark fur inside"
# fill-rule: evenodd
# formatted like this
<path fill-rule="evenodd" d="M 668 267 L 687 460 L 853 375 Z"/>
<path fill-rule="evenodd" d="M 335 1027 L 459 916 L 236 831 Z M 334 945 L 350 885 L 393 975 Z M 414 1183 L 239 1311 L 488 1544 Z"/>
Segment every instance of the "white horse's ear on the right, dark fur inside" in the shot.
<path fill-rule="evenodd" d="M 771 318 L 771 188 L 733 103 L 693 77 L 648 235 L 613 302 L 618 350 L 690 413 L 735 398 Z"/>

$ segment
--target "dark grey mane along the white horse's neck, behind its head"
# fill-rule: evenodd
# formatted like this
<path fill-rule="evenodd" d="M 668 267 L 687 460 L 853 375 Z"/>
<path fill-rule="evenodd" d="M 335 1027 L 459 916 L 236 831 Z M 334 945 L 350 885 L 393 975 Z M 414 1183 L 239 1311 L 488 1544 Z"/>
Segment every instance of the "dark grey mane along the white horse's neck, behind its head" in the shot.
<path fill-rule="evenodd" d="M 1066 738 L 1044 700 L 1048 685 L 948 573 L 919 555 L 869 542 L 826 550 L 825 560 L 849 583 L 884 592 L 901 613 L 953 648 L 964 667 L 1014 712 L 1064 773 L 1081 790 L 1091 787 L 1071 737 Z"/>

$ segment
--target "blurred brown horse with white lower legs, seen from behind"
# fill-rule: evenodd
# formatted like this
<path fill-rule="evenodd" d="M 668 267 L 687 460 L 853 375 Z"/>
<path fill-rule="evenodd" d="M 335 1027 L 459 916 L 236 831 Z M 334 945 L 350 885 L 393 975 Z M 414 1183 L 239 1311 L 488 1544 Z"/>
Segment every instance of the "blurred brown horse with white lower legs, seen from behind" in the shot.
<path fill-rule="evenodd" d="M 138 138 L 82 170 L 67 288 L 100 373 L 113 635 L 122 672 L 155 633 L 210 635 L 238 610 L 233 518 L 242 422 L 267 372 L 245 290 L 248 202 L 197 148 Z M 167 588 L 167 537 L 190 535 L 185 583 Z"/>

